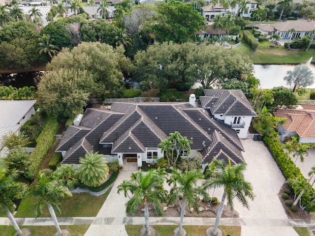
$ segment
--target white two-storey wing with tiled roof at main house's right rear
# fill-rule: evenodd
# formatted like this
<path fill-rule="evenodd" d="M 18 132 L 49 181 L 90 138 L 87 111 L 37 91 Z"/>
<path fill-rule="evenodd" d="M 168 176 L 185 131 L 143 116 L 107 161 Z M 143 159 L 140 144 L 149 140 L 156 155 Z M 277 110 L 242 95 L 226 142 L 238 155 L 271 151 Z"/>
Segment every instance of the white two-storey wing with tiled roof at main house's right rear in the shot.
<path fill-rule="evenodd" d="M 253 117 L 258 117 L 242 90 L 204 89 L 200 96 L 204 109 L 229 125 L 240 139 L 245 139 Z"/>

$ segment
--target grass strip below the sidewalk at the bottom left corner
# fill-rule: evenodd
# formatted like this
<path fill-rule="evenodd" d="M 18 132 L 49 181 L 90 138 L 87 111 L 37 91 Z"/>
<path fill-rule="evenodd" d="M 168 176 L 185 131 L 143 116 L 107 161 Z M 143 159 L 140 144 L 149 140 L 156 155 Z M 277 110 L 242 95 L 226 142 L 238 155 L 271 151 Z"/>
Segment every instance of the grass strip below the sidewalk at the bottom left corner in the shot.
<path fill-rule="evenodd" d="M 4 231 L 2 228 L 5 227 Z M 84 236 L 90 225 L 62 225 L 60 228 L 68 229 L 71 236 Z M 55 226 L 20 226 L 20 228 L 28 228 L 32 236 L 54 236 L 57 232 Z M 1 236 L 12 236 L 15 233 L 13 226 L 1 226 Z"/>

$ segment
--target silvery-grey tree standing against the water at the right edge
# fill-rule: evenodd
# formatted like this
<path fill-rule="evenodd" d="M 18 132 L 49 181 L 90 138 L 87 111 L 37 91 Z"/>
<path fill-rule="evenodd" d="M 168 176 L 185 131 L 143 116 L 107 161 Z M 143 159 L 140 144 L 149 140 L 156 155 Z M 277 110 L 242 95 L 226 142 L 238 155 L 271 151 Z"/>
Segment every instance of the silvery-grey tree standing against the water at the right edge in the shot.
<path fill-rule="evenodd" d="M 291 86 L 292 83 L 294 84 L 292 92 L 296 88 L 305 88 L 314 84 L 314 75 L 307 65 L 297 65 L 293 70 L 288 70 L 286 74 L 284 77 L 286 84 L 288 86 Z"/>

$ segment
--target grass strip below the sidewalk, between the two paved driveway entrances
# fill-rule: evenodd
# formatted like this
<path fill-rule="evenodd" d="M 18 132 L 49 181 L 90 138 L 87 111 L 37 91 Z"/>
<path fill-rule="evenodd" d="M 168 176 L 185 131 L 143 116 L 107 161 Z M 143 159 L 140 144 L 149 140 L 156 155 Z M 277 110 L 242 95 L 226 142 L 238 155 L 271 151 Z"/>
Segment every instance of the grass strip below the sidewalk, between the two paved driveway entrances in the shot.
<path fill-rule="evenodd" d="M 138 236 L 139 230 L 142 225 L 126 225 L 126 231 L 128 236 Z M 177 225 L 154 225 L 157 230 L 157 236 L 169 236 L 173 235 L 173 230 L 178 227 Z M 206 225 L 185 225 L 189 236 L 202 236 L 205 235 L 206 229 L 209 226 Z M 223 235 L 241 236 L 241 226 L 220 226 L 223 231 Z"/>

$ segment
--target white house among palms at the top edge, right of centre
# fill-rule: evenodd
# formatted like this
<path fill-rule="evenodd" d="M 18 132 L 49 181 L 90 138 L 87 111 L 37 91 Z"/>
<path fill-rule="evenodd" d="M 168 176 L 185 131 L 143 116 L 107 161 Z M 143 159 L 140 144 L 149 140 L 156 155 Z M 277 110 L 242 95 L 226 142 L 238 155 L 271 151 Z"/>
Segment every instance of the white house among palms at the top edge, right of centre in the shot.
<path fill-rule="evenodd" d="M 251 17 L 252 12 L 258 9 L 258 2 L 255 0 L 250 0 L 250 3 L 246 4 L 246 7 L 248 9 L 248 13 L 242 14 L 242 17 Z M 233 16 L 240 16 L 239 11 L 241 9 L 241 5 L 236 4 L 235 7 L 229 6 L 227 9 L 223 9 L 220 4 L 217 4 L 215 6 L 213 4 L 210 4 L 201 7 L 201 9 L 201 15 L 203 15 L 206 20 L 209 21 L 217 15 L 225 16 L 227 14 L 232 14 Z"/>

